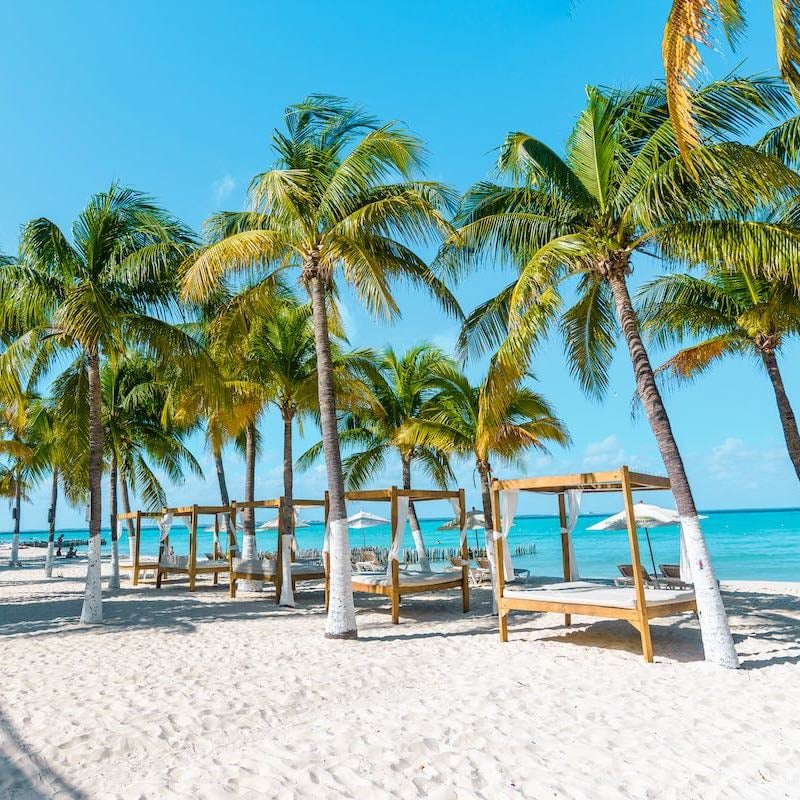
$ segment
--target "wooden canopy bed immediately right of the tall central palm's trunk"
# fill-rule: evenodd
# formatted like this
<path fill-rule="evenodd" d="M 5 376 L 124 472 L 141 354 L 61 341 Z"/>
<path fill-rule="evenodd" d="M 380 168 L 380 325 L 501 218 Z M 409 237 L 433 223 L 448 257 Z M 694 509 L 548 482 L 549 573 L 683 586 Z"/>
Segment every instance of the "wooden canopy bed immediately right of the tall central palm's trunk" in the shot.
<path fill-rule="evenodd" d="M 464 613 L 469 611 L 469 551 L 466 538 L 461 537 L 461 555 L 464 566 L 460 571 L 447 572 L 401 572 L 398 563 L 399 543 L 402 541 L 403 531 L 398 532 L 398 500 L 408 498 L 409 502 L 419 503 L 427 500 L 456 500 L 458 502 L 458 519 L 463 529 L 466 519 L 466 506 L 464 503 L 464 490 L 441 491 L 427 489 L 398 489 L 392 486 L 389 489 L 375 489 L 360 492 L 348 492 L 345 499 L 356 502 L 389 503 L 391 508 L 392 548 L 389 551 L 389 565 L 380 572 L 354 572 L 352 577 L 353 591 L 365 594 L 379 594 L 388 597 L 392 604 L 392 623 L 400 622 L 400 600 L 404 595 L 420 594 L 422 592 L 437 592 L 443 589 L 461 589 Z M 404 526 L 403 526 L 404 527 Z M 399 535 L 399 539 L 398 539 Z"/>

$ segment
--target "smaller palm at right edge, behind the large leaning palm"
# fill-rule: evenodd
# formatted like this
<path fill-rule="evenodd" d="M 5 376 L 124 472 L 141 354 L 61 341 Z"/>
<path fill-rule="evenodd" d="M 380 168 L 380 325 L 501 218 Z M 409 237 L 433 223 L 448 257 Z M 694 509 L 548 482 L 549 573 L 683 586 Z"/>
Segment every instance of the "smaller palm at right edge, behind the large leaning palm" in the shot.
<path fill-rule="evenodd" d="M 718 269 L 703 278 L 665 275 L 646 284 L 638 309 L 642 327 L 660 345 L 682 344 L 656 372 L 690 381 L 721 358 L 755 356 L 772 382 L 786 448 L 800 479 L 800 433 L 778 367 L 783 342 L 800 333 L 800 296 L 789 281 Z"/>

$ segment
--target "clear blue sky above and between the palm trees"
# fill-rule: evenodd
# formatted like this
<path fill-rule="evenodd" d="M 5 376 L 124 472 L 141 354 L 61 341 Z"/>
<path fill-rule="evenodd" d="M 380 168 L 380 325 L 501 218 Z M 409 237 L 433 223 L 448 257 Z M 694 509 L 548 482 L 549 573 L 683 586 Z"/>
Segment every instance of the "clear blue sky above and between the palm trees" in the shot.
<path fill-rule="evenodd" d="M 406 123 L 428 145 L 429 177 L 463 190 L 491 173 L 494 150 L 510 130 L 560 148 L 580 111 L 587 83 L 624 85 L 661 76 L 665 0 L 548 0 L 522 3 L 138 2 L 5 4 L 0 12 L 0 250 L 13 252 L 19 226 L 47 216 L 69 226 L 92 192 L 112 180 L 155 195 L 199 227 L 220 208 L 241 207 L 250 177 L 270 163 L 271 131 L 284 107 L 311 92 L 346 96 L 384 119 Z M 769 4 L 747 3 L 749 31 L 732 54 L 709 54 L 712 76 L 772 71 Z M 634 282 L 654 274 L 642 263 Z M 498 272 L 464 281 L 465 309 L 504 285 Z M 403 319 L 389 327 L 347 301 L 353 344 L 402 349 L 431 338 L 450 348 L 453 320 L 417 294 L 399 293 Z M 785 380 L 800 398 L 786 348 Z M 658 354 L 654 360 L 658 360 Z M 476 371 L 478 367 L 473 368 Z M 650 430 L 632 420 L 633 380 L 625 353 L 613 366 L 603 403 L 584 398 L 554 339 L 538 355 L 539 389 L 557 406 L 574 440 L 534 473 L 626 462 L 663 471 Z M 800 400 L 797 401 L 800 403 Z M 749 362 L 718 367 L 668 398 L 699 505 L 797 505 L 767 378 Z M 280 492 L 279 431 L 268 417 L 258 492 Z M 307 429 L 307 440 L 315 438 Z M 298 450 L 302 447 L 298 445 Z M 207 454 L 195 450 L 208 480 L 169 488 L 170 503 L 216 495 Z M 242 465 L 228 457 L 232 495 Z M 498 470 L 503 474 L 503 470 Z M 478 500 L 470 465 L 459 478 Z M 390 465 L 382 482 L 398 480 Z M 321 471 L 298 476 L 299 493 L 317 494 Z M 23 511 L 23 527 L 46 519 L 47 490 Z M 616 501 L 592 499 L 589 507 Z M 594 505 L 592 505 L 594 504 Z M 439 509 L 441 510 L 441 509 Z M 550 511 L 530 500 L 522 511 Z M 63 525 L 81 525 L 64 510 Z M 0 513 L 0 529 L 8 525 Z"/>

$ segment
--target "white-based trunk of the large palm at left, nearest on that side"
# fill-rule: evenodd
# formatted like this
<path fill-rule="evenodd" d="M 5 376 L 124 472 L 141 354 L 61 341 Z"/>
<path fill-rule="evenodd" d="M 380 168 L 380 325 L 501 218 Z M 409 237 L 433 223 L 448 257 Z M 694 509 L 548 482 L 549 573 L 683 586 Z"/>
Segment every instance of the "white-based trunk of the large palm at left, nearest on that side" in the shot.
<path fill-rule="evenodd" d="M 87 353 L 89 377 L 89 560 L 86 566 L 86 591 L 81 623 L 103 621 L 103 584 L 100 570 L 100 524 L 103 515 L 100 483 L 103 477 L 103 421 L 100 396 L 100 354 L 97 348 Z"/>

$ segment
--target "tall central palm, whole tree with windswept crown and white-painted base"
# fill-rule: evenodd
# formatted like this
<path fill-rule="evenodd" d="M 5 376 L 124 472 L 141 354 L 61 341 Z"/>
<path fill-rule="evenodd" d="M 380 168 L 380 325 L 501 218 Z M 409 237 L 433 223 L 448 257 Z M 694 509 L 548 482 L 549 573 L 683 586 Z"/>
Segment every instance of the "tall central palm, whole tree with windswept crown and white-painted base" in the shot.
<path fill-rule="evenodd" d="M 260 267 L 265 279 L 298 269 L 311 300 L 320 424 L 328 473 L 331 592 L 326 635 L 357 636 L 344 477 L 336 426 L 329 310 L 341 276 L 374 313 L 399 314 L 391 286 L 423 286 L 446 310 L 458 305 L 411 246 L 448 230 L 444 188 L 416 178 L 422 147 L 399 125 L 379 125 L 343 101 L 313 96 L 286 111 L 277 163 L 250 187 L 253 210 L 210 222 L 213 243 L 190 260 L 184 294 L 212 294 L 227 274 Z M 394 182 L 392 182 L 394 181 Z"/>

